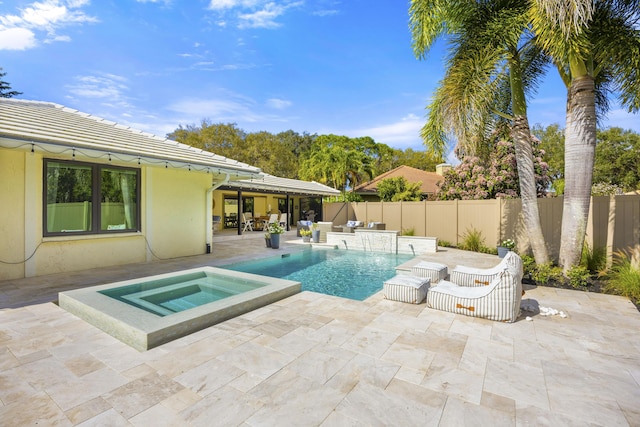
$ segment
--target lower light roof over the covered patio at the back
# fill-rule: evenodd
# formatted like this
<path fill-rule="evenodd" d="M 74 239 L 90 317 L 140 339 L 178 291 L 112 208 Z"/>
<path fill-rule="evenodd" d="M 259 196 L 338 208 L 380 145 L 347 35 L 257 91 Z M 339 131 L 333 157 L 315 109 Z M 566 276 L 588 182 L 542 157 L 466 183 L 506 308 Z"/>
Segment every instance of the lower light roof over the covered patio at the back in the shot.
<path fill-rule="evenodd" d="M 233 181 L 223 188 L 307 196 L 336 196 L 340 194 L 339 190 L 315 181 L 309 182 L 290 178 L 280 178 L 266 173 L 260 174 L 259 178 Z"/>

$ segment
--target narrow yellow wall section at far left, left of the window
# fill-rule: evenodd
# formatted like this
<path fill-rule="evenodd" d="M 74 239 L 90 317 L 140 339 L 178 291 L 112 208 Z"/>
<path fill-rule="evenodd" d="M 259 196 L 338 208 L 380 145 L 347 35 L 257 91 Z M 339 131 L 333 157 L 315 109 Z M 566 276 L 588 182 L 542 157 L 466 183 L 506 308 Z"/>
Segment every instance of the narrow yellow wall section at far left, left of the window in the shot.
<path fill-rule="evenodd" d="M 26 153 L 0 148 L 0 280 L 22 277 Z"/>

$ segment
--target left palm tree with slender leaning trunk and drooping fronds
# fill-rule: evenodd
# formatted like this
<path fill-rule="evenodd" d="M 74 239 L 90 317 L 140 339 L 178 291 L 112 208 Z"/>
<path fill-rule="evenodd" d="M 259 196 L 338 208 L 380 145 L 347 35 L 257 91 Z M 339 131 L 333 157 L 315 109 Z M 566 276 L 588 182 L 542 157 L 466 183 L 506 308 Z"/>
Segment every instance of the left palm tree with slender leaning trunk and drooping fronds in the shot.
<path fill-rule="evenodd" d="M 459 148 L 473 151 L 498 122 L 509 120 L 529 241 L 536 262 L 547 263 L 526 103 L 545 57 L 528 31 L 526 3 L 413 0 L 410 16 L 419 58 L 438 37 L 450 35 L 451 57 L 429 105 L 425 143 L 442 153 L 446 135 L 452 133 Z"/>

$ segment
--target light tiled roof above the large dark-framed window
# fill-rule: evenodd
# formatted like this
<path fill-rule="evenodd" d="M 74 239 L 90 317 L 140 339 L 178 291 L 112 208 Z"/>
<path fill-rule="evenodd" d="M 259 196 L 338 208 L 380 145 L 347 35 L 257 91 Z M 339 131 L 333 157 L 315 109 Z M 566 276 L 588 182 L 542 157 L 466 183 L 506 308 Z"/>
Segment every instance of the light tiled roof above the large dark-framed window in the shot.
<path fill-rule="evenodd" d="M 59 104 L 0 98 L 0 147 L 114 156 L 157 167 L 260 176 L 260 169 Z"/>

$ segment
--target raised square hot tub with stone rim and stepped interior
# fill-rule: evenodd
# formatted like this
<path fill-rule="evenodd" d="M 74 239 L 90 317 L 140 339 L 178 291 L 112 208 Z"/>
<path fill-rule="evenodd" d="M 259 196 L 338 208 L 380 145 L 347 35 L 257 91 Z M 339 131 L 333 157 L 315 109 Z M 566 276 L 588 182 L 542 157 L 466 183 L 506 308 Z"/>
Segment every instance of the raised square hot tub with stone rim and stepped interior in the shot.
<path fill-rule="evenodd" d="M 60 307 L 144 351 L 300 292 L 300 282 L 202 267 L 60 292 Z"/>

